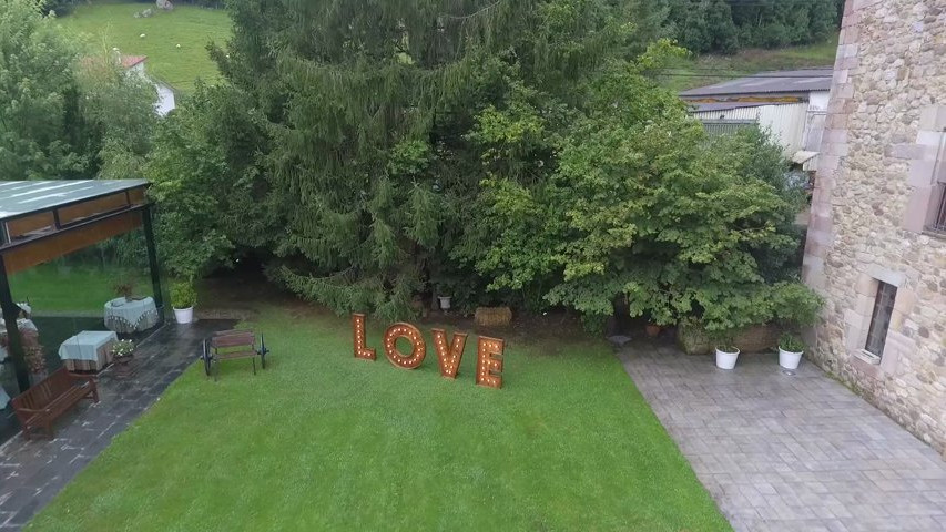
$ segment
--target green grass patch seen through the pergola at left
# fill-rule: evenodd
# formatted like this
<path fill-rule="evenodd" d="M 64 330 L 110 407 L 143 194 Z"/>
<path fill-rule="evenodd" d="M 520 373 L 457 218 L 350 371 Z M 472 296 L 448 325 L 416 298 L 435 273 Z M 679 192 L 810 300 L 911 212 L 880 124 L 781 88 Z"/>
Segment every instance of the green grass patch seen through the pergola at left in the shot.
<path fill-rule="evenodd" d="M 144 273 L 105 268 L 88 264 L 55 262 L 10 276 L 10 289 L 17 300 L 29 300 L 33 313 L 102 314 L 103 305 L 118 295 L 119 280 L 134 282 L 135 295 L 152 295 L 151 280 Z"/>

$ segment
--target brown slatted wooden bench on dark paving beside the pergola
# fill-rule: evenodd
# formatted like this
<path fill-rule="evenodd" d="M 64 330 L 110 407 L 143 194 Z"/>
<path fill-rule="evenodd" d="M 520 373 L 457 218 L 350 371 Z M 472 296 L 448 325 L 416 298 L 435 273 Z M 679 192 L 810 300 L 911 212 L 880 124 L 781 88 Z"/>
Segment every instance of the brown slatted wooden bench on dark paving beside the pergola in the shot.
<path fill-rule="evenodd" d="M 30 440 L 33 431 L 42 428 L 47 437 L 53 438 L 52 423 L 82 399 L 99 402 L 95 379 L 70 374 L 59 368 L 52 375 L 13 398 L 13 411 L 23 427 L 23 436 Z"/>

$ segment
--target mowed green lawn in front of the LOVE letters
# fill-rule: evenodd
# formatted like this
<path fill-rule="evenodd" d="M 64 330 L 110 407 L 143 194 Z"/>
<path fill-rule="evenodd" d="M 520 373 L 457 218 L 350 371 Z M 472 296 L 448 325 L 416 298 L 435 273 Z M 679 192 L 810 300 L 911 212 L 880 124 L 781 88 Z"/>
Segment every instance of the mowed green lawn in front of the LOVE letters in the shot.
<path fill-rule="evenodd" d="M 509 339 L 495 390 L 474 335 L 447 380 L 433 349 L 353 358 L 348 319 L 261 316 L 265 371 L 192 366 L 27 530 L 730 530 L 599 341 Z"/>

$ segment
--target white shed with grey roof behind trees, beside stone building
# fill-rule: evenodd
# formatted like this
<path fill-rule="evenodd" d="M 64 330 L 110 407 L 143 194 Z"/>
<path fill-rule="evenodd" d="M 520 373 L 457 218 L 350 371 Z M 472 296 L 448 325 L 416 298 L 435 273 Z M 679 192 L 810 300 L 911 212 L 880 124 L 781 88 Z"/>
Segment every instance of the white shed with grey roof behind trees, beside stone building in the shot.
<path fill-rule="evenodd" d="M 786 158 L 814 172 L 827 115 L 833 69 L 759 74 L 691 89 L 680 98 L 711 133 L 760 126 Z"/>

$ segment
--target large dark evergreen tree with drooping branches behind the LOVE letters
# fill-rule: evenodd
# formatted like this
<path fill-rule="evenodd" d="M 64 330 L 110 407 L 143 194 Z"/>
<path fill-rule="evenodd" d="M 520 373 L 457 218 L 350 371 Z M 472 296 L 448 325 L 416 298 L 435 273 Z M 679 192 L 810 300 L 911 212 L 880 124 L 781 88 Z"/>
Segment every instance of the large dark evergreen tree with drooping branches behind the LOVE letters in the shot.
<path fill-rule="evenodd" d="M 387 318 L 431 289 L 471 217 L 484 177 L 466 136 L 475 116 L 520 90 L 579 102 L 590 72 L 657 32 L 654 18 L 631 23 L 637 3 L 608 0 L 230 7 L 234 38 L 214 55 L 265 124 L 257 192 L 278 213 L 233 239 L 268 234 L 274 277 Z"/>

